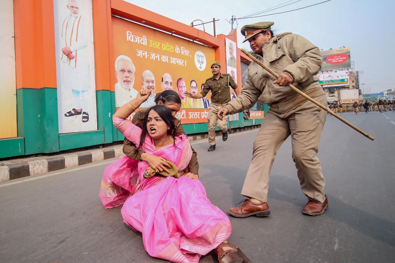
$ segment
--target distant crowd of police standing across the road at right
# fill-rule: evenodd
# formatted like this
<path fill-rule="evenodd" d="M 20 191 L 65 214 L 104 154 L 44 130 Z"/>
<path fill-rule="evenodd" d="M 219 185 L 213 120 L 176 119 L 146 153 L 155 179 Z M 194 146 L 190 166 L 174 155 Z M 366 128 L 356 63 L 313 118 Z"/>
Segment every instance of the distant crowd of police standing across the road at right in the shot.
<path fill-rule="evenodd" d="M 333 104 L 329 104 L 328 108 L 333 111 L 334 113 L 343 113 L 343 111 L 354 111 L 355 114 L 361 111 L 365 111 L 366 113 L 368 111 L 395 111 L 395 99 L 394 100 L 382 100 L 381 98 L 378 101 L 360 101 L 360 102 L 354 102 L 351 104 L 351 107 L 349 106 L 350 103 L 341 104 L 337 103 L 337 101 L 334 101 Z"/>

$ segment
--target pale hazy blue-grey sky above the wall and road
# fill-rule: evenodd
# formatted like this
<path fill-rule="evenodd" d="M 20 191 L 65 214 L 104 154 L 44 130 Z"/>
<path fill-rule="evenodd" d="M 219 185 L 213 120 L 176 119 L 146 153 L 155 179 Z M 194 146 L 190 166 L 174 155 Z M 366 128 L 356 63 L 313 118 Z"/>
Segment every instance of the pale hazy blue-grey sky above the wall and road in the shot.
<path fill-rule="evenodd" d="M 228 34 L 231 25 L 226 21 L 232 15 L 236 18 L 262 11 L 288 0 L 260 1 L 147 1 L 127 0 L 132 4 L 149 9 L 184 24 L 194 19 L 204 22 L 220 19 L 216 22 L 217 34 Z M 289 3 L 295 2 L 293 0 Z M 288 11 L 309 6 L 324 0 L 300 0 L 289 6 L 263 13 L 262 15 Z M 250 3 L 255 3 L 250 4 Z M 288 3 L 288 4 L 289 4 Z M 350 47 L 351 60 L 355 61 L 355 70 L 364 71 L 360 83 L 371 87 L 371 92 L 395 88 L 395 73 L 391 68 L 395 62 L 395 1 L 390 0 L 331 0 L 309 8 L 250 19 L 238 22 L 238 46 L 248 48 L 248 42 L 241 43 L 244 37 L 240 29 L 244 24 L 260 21 L 274 21 L 275 34 L 292 32 L 300 34 L 320 49 Z M 235 25 L 237 26 L 237 25 Z M 213 34 L 212 24 L 206 24 L 206 32 Z M 198 26 L 203 29 L 202 26 Z M 362 86 L 361 86 L 362 88 Z"/>

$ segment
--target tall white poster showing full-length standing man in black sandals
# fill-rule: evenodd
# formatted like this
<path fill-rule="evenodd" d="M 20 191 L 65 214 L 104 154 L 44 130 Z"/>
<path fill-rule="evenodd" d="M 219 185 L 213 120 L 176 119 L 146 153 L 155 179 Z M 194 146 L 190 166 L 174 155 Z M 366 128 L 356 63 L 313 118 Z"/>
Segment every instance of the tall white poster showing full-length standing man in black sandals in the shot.
<path fill-rule="evenodd" d="M 59 133 L 97 130 L 91 0 L 54 0 Z"/>

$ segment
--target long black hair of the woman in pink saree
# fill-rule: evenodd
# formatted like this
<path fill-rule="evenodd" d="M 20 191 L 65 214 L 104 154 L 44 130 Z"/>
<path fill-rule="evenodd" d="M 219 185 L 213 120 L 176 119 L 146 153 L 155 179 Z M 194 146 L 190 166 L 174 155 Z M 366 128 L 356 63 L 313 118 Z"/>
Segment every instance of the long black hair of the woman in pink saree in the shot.
<path fill-rule="evenodd" d="M 144 124 L 143 124 L 143 127 L 141 128 L 142 131 L 141 131 L 141 137 L 140 137 L 140 145 L 139 145 L 138 149 L 141 148 L 141 146 L 145 142 L 145 137 L 147 137 L 148 115 L 149 115 L 150 111 L 152 111 L 152 110 L 156 111 L 156 113 L 158 113 L 160 118 L 162 118 L 162 120 L 167 124 L 167 126 L 169 126 L 169 130 L 167 130 L 167 134 L 170 135 L 171 137 L 173 137 L 173 145 L 174 145 L 174 147 L 178 148 L 175 145 L 175 136 L 177 133 L 177 129 L 174 124 L 174 117 L 173 117 L 173 115 L 171 115 L 171 111 L 165 105 L 155 105 L 155 106 L 152 106 L 148 109 L 147 115 L 144 118 Z"/>

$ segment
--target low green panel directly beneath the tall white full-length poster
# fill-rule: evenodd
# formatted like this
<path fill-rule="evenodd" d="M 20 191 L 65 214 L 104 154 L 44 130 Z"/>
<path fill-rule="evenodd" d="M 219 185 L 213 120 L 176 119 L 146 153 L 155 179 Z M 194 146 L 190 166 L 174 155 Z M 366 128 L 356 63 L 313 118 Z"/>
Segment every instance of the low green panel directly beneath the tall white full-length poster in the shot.
<path fill-rule="evenodd" d="M 75 149 L 104 143 L 104 130 L 59 134 L 60 150 Z"/>

